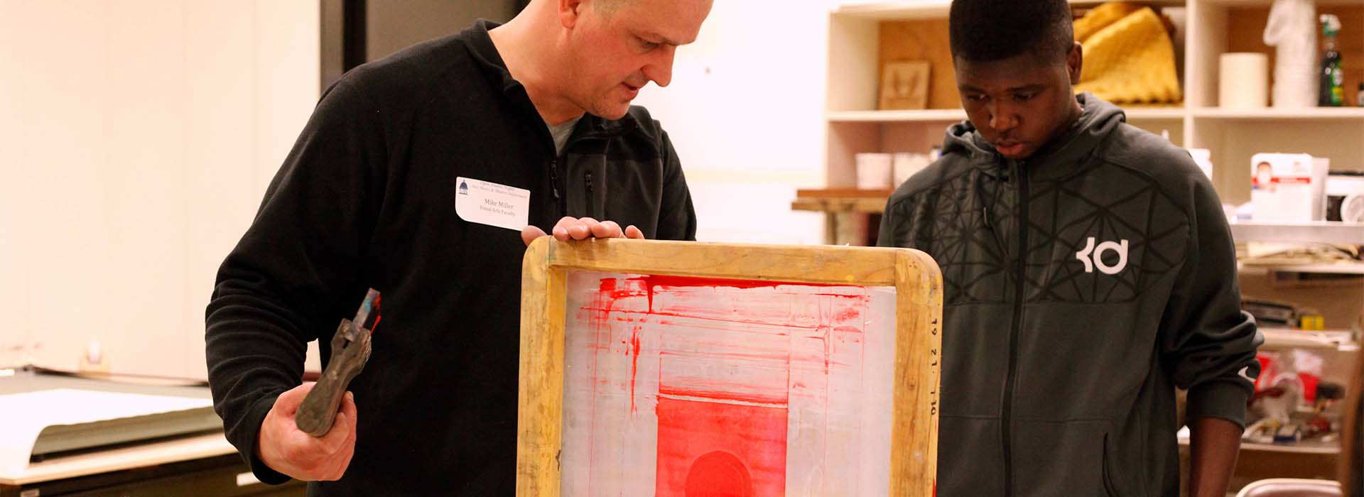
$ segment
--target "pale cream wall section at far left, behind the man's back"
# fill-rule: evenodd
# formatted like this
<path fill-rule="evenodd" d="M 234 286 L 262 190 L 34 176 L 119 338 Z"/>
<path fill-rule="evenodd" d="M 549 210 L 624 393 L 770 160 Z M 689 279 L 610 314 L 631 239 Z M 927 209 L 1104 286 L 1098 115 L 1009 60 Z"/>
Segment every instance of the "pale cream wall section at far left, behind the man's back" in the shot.
<path fill-rule="evenodd" d="M 316 0 L 0 0 L 0 365 L 205 377 L 203 306 L 318 98 Z"/>

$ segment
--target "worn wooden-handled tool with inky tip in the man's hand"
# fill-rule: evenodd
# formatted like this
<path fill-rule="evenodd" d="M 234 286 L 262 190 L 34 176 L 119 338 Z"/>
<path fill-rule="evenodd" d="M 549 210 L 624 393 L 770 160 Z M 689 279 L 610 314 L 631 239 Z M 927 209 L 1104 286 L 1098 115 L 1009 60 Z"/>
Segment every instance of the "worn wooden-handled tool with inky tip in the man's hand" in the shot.
<path fill-rule="evenodd" d="M 367 320 L 374 315 L 374 324 L 367 328 Z M 318 379 L 308 396 L 303 399 L 299 411 L 293 417 L 295 425 L 303 433 L 321 437 L 331 429 L 337 410 L 341 406 L 341 396 L 345 395 L 351 380 L 364 369 L 364 362 L 370 359 L 370 335 L 379 324 L 379 291 L 370 289 L 364 294 L 364 302 L 356 310 L 355 319 L 342 319 L 331 336 L 331 359 L 327 361 L 326 370 Z"/>

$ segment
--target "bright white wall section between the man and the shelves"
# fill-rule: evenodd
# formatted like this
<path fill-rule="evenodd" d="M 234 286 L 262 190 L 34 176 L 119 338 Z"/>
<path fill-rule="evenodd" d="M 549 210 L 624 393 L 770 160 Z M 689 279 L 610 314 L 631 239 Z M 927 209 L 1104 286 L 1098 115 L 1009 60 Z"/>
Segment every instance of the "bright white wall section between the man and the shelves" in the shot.
<path fill-rule="evenodd" d="M 692 187 L 702 241 L 818 244 L 824 218 L 792 212 L 824 185 L 828 12 L 836 0 L 716 0 L 672 84 L 636 103 L 663 123 Z"/>

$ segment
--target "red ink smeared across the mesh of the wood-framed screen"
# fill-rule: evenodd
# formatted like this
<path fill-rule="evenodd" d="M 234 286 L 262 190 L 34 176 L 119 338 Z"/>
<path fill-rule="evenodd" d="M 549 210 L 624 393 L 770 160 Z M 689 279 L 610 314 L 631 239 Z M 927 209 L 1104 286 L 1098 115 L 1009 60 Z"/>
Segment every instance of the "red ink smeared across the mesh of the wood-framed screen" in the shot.
<path fill-rule="evenodd" d="M 593 395 L 656 417 L 656 496 L 765 497 L 786 494 L 791 396 L 828 402 L 831 368 L 861 374 L 847 362 L 862 359 L 870 301 L 848 285 L 653 275 L 602 278 L 577 316 L 593 330 Z"/>

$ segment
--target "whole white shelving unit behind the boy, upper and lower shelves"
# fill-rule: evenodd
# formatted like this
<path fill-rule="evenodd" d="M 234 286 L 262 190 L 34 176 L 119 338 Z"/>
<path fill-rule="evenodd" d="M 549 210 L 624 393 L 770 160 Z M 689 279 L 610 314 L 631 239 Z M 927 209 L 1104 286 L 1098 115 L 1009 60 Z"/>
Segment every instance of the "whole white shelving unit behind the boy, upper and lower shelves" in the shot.
<path fill-rule="evenodd" d="M 1022 1 L 1022 0 L 1020 0 Z M 1101 1 L 1071 1 L 1072 5 L 1095 5 Z M 1146 131 L 1168 132 L 1181 147 L 1209 148 L 1214 163 L 1213 182 L 1225 203 L 1249 200 L 1251 155 L 1256 153 L 1307 153 L 1331 158 L 1333 169 L 1364 170 L 1364 109 L 1258 109 L 1218 108 L 1218 61 L 1222 53 L 1240 50 L 1269 52 L 1256 30 L 1263 30 L 1273 0 L 1162 0 L 1155 1 L 1176 22 L 1177 71 L 1184 101 L 1168 108 L 1128 108 L 1128 123 Z M 846 3 L 829 14 L 828 72 L 825 98 L 825 184 L 829 189 L 855 185 L 854 157 L 858 153 L 926 153 L 941 144 L 945 128 L 966 116 L 959 103 L 941 93 L 955 94 L 951 60 L 933 61 L 930 68 L 930 103 L 925 110 L 877 110 L 877 89 L 883 44 L 914 42 L 915 49 L 892 50 L 887 59 L 933 60 L 932 54 L 948 49 L 947 15 L 951 0 L 910 0 L 883 3 Z M 1316 0 L 1318 12 L 1345 11 L 1353 22 L 1342 30 L 1349 46 L 1364 41 L 1364 1 Z M 1255 20 L 1255 19 L 1259 20 Z M 1345 20 L 1346 18 L 1342 18 Z M 1357 20 L 1356 20 L 1357 19 Z M 1007 22 L 1001 19 L 1001 22 Z M 1259 26 L 1249 26 L 1259 22 Z M 884 30 L 884 31 L 883 31 Z M 1248 42 L 1248 39 L 1251 42 Z M 892 45 L 893 46 L 893 45 Z M 902 53 L 903 52 L 903 53 Z M 914 54 L 914 56 L 906 56 Z M 1356 56 L 1346 54 L 1346 60 Z M 944 72 L 945 71 L 945 72 Z M 944 78 L 947 76 L 947 78 Z M 1357 78 L 1357 76 L 1354 76 Z M 1354 83 L 1357 84 L 1357 83 Z M 1348 80 L 1346 90 L 1353 90 Z M 1350 93 L 1353 95 L 1353 93 Z M 934 95 L 937 98 L 934 98 Z M 1353 102 L 1353 97 L 1348 101 Z M 865 199 L 859 199 L 865 200 Z M 842 212 L 829 219 L 847 221 L 861 215 Z M 837 223 L 831 221 L 829 233 Z M 1364 225 L 1345 223 L 1237 223 L 1232 226 L 1237 241 L 1364 244 Z M 832 240 L 831 240 L 832 241 Z M 1334 264 L 1333 264 L 1334 266 Z M 1346 267 L 1275 267 L 1273 271 L 1320 270 L 1322 272 L 1364 274 L 1364 264 Z M 1333 271 L 1334 272 L 1334 271 Z M 1273 294 L 1275 289 L 1266 290 Z M 1322 293 L 1335 293 L 1326 287 Z M 1320 294 L 1320 293 L 1319 293 Z M 1312 297 L 1315 298 L 1315 297 Z M 1326 310 L 1326 309 L 1323 309 Z M 1334 321 L 1337 325 L 1345 320 Z M 1320 354 L 1352 358 L 1357 343 L 1344 343 L 1337 334 L 1314 334 L 1267 330 L 1266 349 L 1307 347 Z M 1344 364 L 1344 362 L 1342 362 Z M 1339 376 L 1339 374 L 1337 374 Z M 1243 460 L 1273 463 L 1281 456 L 1324 458 L 1337 448 L 1312 444 L 1292 447 L 1245 444 Z M 1311 463 L 1315 464 L 1315 463 Z M 1307 466 L 1311 466 L 1307 464 Z"/>

